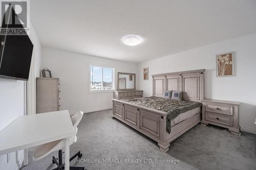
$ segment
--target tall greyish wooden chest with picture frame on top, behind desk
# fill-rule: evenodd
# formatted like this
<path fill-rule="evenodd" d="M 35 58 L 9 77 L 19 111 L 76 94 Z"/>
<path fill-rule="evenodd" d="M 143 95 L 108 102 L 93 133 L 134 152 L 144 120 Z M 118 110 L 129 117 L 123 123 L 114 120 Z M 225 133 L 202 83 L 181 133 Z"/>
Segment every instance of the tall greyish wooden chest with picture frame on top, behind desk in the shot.
<path fill-rule="evenodd" d="M 59 79 L 36 78 L 36 113 L 58 111 Z"/>

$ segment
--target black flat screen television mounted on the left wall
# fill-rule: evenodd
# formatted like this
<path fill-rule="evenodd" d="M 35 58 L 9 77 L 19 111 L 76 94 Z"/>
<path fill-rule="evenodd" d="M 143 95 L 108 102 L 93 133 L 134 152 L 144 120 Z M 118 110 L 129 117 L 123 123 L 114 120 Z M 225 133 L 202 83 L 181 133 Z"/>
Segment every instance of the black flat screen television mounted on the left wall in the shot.
<path fill-rule="evenodd" d="M 5 18 L 8 18 L 7 22 Z M 9 23 L 13 23 L 14 19 L 16 27 L 24 29 L 12 6 L 9 6 L 2 19 L 1 31 L 3 27 L 9 29 L 8 26 L 11 26 Z M 33 44 L 27 33 L 23 35 L 1 34 L 0 40 L 0 78 L 28 81 Z"/>

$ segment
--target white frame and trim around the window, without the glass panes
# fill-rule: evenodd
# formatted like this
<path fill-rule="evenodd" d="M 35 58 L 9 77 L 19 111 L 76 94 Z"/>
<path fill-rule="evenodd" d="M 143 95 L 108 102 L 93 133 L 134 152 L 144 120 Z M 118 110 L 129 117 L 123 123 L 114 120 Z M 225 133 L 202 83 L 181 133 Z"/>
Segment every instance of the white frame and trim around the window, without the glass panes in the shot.
<path fill-rule="evenodd" d="M 113 89 L 91 89 L 91 65 L 92 66 L 98 66 L 98 67 L 105 67 L 105 68 L 112 68 L 113 69 L 113 73 L 112 73 L 112 83 L 113 83 Z M 103 71 L 102 71 L 103 74 Z M 112 65 L 108 65 L 108 64 L 96 64 L 96 63 L 89 63 L 89 93 L 100 93 L 100 92 L 113 92 L 115 91 L 115 67 Z M 103 79 L 103 75 L 102 75 L 102 79 Z M 102 80 L 101 80 L 102 81 Z"/>

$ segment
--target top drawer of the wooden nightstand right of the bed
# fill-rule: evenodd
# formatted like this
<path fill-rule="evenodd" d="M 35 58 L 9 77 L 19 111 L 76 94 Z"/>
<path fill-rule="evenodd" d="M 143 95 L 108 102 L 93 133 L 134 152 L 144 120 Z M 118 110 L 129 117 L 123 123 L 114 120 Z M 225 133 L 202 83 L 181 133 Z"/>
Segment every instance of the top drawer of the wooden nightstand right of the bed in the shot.
<path fill-rule="evenodd" d="M 210 112 L 233 115 L 233 107 L 229 105 L 205 104 L 205 110 Z"/>

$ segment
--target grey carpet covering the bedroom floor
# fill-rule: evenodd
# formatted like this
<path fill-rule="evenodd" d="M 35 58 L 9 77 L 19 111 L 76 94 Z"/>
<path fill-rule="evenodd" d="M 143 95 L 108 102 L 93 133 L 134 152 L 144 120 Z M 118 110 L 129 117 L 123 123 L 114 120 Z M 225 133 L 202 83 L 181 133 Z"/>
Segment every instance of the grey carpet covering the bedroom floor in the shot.
<path fill-rule="evenodd" d="M 167 153 L 161 152 L 157 142 L 111 119 L 112 110 L 84 114 L 78 126 L 77 142 L 70 154 L 81 151 L 84 159 L 152 159 L 153 163 L 77 163 L 87 169 L 256 169 L 255 135 L 242 132 L 233 135 L 216 126 L 197 125 L 170 144 Z M 39 161 L 32 161 L 29 150 L 28 169 L 51 169 L 52 153 Z M 179 159 L 180 163 L 155 163 L 155 159 Z"/>

